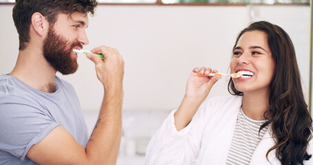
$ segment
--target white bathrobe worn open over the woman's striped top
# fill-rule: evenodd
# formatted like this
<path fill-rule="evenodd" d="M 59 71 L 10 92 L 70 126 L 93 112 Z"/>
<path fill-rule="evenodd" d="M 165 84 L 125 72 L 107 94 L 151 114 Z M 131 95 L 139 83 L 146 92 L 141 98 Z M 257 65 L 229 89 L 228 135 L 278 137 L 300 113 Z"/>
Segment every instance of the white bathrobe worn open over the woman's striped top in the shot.
<path fill-rule="evenodd" d="M 176 110 L 173 110 L 151 139 L 145 164 L 226 164 L 241 102 L 241 96 L 211 98 L 199 107 L 193 120 L 181 131 L 175 129 Z M 255 149 L 250 164 L 281 164 L 275 156 L 275 151 L 268 155 L 270 162 L 266 159 L 268 149 L 275 144 L 271 134 L 269 128 Z M 308 154 L 313 153 L 310 146 L 307 149 Z M 313 164 L 313 157 L 304 161 L 304 164 Z"/>

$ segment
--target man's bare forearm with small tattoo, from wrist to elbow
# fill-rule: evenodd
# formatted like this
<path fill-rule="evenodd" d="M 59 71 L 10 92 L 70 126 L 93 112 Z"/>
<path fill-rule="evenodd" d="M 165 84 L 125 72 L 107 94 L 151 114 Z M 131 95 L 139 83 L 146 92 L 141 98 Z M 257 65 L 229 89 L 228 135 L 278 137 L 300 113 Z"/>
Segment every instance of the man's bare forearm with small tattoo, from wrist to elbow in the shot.
<path fill-rule="evenodd" d="M 86 146 L 86 156 L 95 164 L 116 164 L 122 134 L 123 91 L 105 94 L 98 121 Z"/>

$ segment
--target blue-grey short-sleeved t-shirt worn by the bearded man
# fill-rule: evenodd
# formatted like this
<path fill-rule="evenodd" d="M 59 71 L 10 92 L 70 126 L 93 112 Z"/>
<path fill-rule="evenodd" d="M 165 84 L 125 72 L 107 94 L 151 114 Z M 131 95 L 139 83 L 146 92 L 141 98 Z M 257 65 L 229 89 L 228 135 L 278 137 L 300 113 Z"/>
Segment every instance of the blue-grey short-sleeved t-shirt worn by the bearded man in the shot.
<path fill-rule="evenodd" d="M 56 92 L 50 94 L 14 76 L 0 76 L 1 165 L 36 164 L 26 153 L 59 125 L 86 146 L 88 130 L 72 85 L 56 76 Z"/>

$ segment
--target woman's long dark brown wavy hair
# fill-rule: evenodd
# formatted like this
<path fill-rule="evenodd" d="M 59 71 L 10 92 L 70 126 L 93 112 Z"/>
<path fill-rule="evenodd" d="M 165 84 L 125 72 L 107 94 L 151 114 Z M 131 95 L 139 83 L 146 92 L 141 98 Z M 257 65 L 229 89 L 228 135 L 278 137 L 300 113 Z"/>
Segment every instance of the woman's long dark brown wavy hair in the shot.
<path fill-rule="evenodd" d="M 294 45 L 282 28 L 266 21 L 259 21 L 240 32 L 233 49 L 242 34 L 254 30 L 266 33 L 275 63 L 270 83 L 270 109 L 263 114 L 268 121 L 260 127 L 261 130 L 270 124 L 276 142 L 268 150 L 266 157 L 270 151 L 276 151 L 276 157 L 281 164 L 303 164 L 303 160 L 312 157 L 307 153 L 308 143 L 312 138 L 312 118 L 303 97 Z M 233 95 L 244 95 L 235 89 L 231 79 L 228 91 Z"/>

